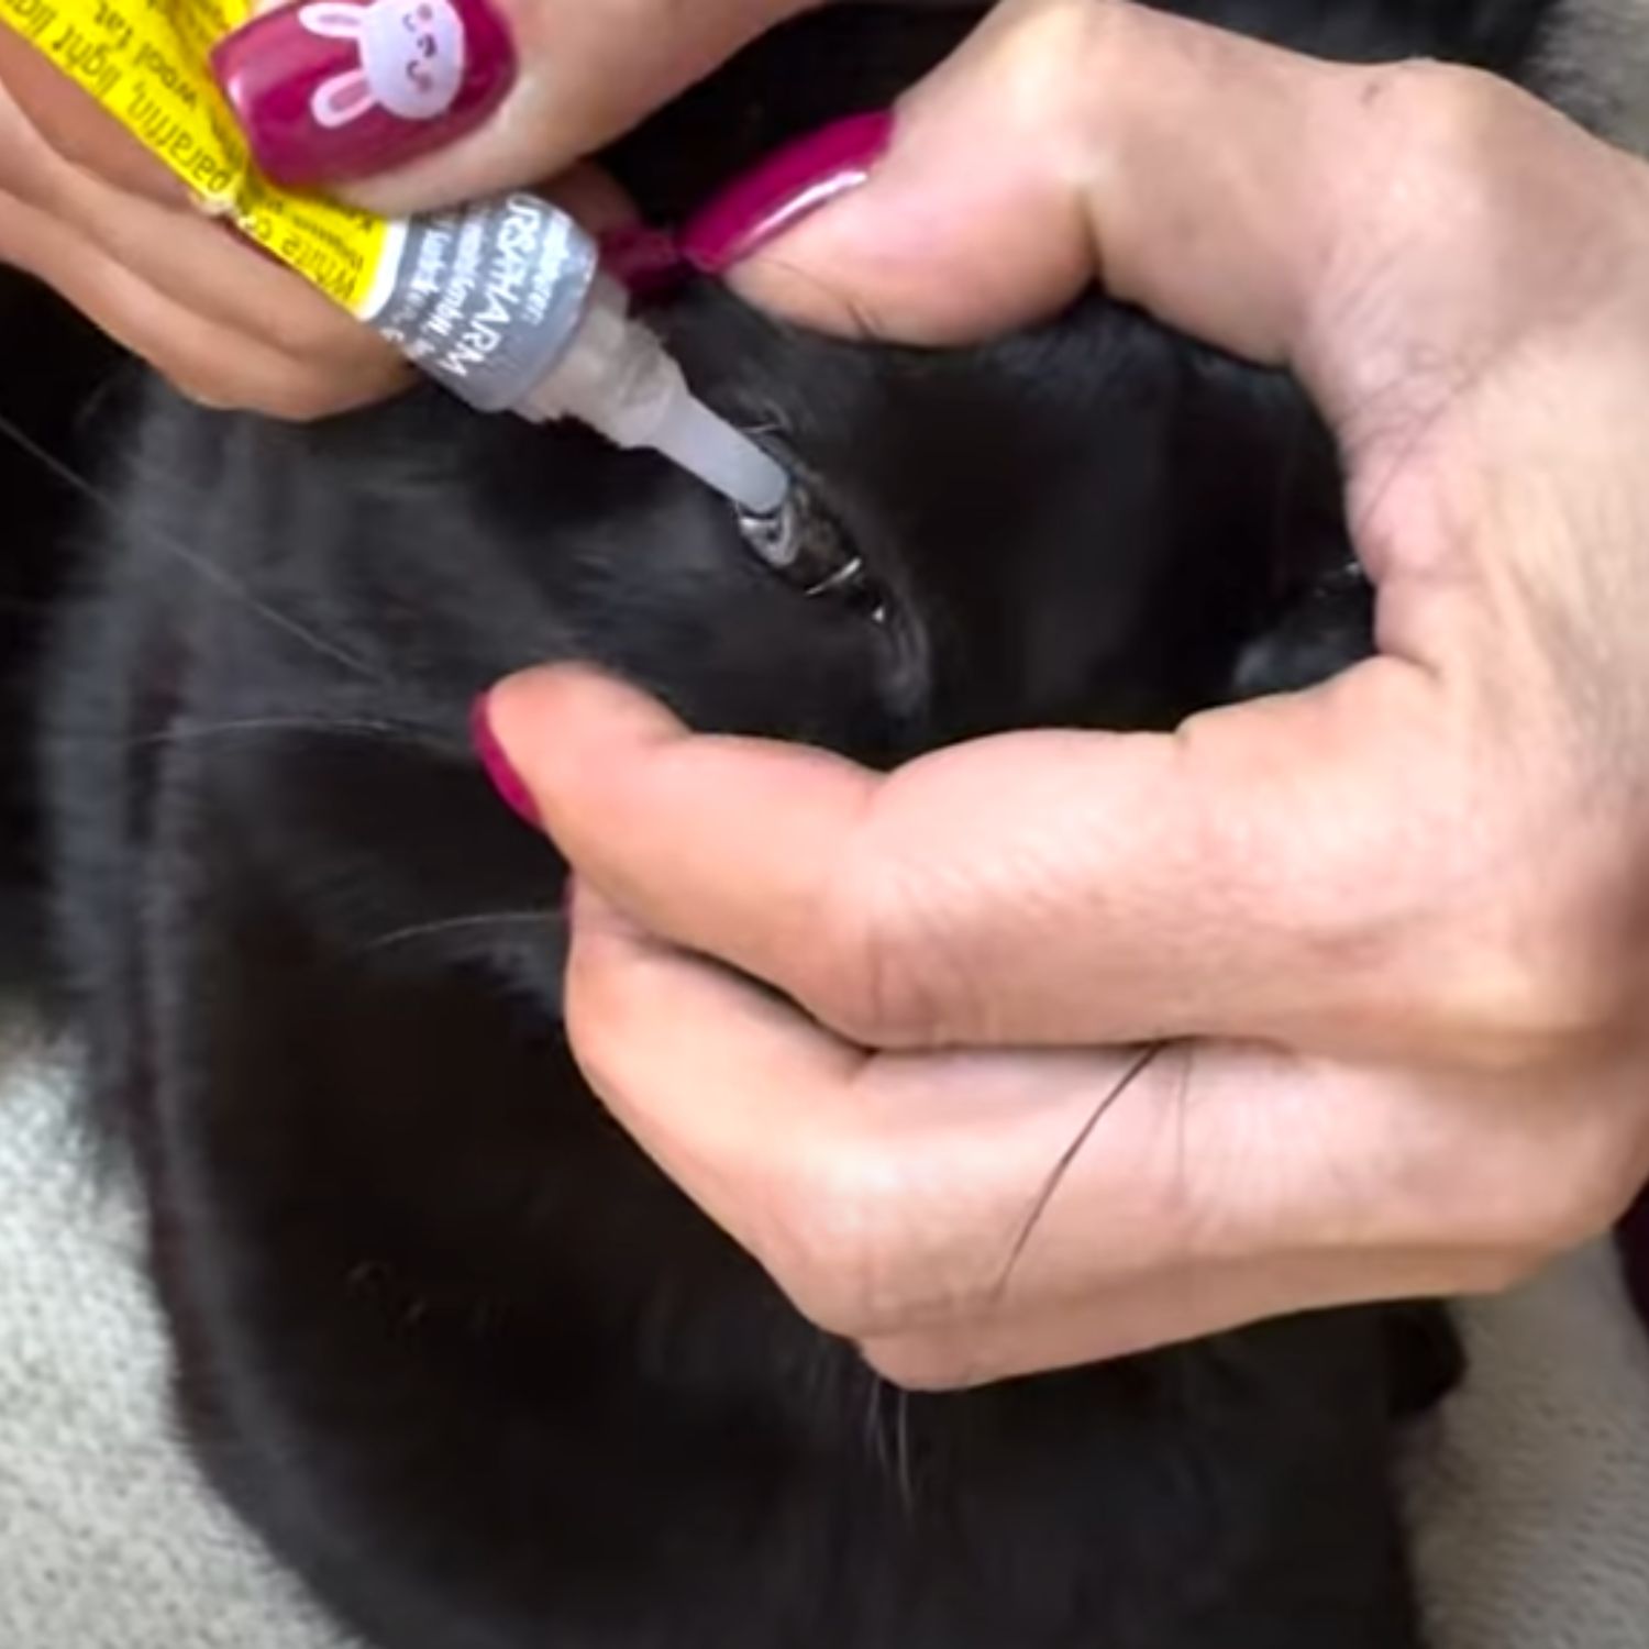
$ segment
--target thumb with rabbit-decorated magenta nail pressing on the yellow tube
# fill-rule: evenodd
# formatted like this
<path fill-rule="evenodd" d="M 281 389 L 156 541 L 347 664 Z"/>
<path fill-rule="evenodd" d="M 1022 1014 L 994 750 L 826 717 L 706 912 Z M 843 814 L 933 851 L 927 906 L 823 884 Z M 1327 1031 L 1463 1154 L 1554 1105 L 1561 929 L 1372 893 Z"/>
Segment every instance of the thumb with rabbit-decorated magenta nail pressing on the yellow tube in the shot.
<path fill-rule="evenodd" d="M 269 176 L 401 214 L 554 176 L 818 3 L 287 3 L 214 68 Z"/>

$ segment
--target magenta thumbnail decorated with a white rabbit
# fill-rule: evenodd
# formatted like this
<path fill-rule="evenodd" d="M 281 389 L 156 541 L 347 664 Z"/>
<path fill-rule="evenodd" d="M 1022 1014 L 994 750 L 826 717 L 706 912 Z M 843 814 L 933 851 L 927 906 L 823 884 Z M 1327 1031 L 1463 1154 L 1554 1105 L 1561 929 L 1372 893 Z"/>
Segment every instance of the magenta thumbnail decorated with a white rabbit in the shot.
<path fill-rule="evenodd" d="M 259 168 L 331 183 L 450 143 L 514 79 L 486 0 L 305 0 L 254 16 L 211 53 Z"/>

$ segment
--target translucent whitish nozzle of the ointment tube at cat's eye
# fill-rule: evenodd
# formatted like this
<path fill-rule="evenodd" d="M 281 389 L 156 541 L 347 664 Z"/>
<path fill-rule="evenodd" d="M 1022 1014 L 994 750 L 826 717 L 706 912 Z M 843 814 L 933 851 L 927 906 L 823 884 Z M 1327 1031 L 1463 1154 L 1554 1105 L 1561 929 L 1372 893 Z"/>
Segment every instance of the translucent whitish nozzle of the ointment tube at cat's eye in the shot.
<path fill-rule="evenodd" d="M 752 514 L 772 514 L 790 477 L 749 435 L 698 401 L 681 368 L 605 275 L 554 369 L 519 407 L 528 417 L 572 414 L 618 447 L 651 447 Z"/>

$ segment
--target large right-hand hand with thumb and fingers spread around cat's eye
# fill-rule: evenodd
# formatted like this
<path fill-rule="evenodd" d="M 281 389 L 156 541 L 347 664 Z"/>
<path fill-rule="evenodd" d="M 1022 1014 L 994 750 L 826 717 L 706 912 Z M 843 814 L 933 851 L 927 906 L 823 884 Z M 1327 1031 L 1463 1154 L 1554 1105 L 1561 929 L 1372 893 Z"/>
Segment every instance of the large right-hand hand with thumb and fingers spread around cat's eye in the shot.
<path fill-rule="evenodd" d="M 490 699 L 592 1083 L 910 1385 L 1501 1286 L 1649 1172 L 1649 168 L 1468 71 L 1009 0 L 734 280 L 933 343 L 1095 277 L 1311 389 L 1379 656 L 887 777 Z"/>

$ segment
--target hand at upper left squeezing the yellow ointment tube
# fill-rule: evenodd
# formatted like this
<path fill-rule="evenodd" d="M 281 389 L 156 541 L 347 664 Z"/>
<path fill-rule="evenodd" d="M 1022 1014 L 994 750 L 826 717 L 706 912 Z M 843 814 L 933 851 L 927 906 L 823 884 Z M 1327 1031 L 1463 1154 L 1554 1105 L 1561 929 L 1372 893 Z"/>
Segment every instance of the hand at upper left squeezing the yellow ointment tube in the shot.
<path fill-rule="evenodd" d="M 439 23 L 435 61 L 462 41 L 452 106 L 434 119 L 383 107 L 333 125 L 284 119 L 295 84 L 331 76 L 317 54 L 333 66 L 359 56 L 351 40 L 302 28 L 297 5 L 231 36 L 219 71 L 274 176 L 353 180 L 351 198 L 389 213 L 561 178 L 552 193 L 602 233 L 625 208 L 589 175 L 569 183 L 574 162 L 803 3 L 424 0 Z M 419 10 L 384 0 L 379 15 L 384 5 Z M 320 10 L 366 15 L 356 0 Z M 318 417 L 411 378 L 359 322 L 195 209 L 160 162 L 10 30 L 0 30 L 0 262 L 48 282 L 213 406 Z"/>

